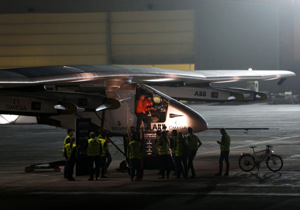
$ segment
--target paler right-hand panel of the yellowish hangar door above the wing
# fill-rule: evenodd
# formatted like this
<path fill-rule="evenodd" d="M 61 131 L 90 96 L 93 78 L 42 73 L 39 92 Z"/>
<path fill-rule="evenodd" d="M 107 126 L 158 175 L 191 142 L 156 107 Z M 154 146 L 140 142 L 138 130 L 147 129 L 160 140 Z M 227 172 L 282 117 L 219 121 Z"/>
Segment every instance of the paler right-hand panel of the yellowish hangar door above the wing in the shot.
<path fill-rule="evenodd" d="M 194 10 L 110 13 L 112 64 L 194 63 Z"/>

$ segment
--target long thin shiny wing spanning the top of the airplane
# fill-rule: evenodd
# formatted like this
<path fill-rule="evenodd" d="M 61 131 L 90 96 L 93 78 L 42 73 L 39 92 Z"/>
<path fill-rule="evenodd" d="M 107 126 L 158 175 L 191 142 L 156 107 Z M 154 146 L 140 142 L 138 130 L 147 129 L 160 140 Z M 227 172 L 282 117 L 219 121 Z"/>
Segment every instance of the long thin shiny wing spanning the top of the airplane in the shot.
<path fill-rule="evenodd" d="M 119 65 L 65 65 L 9 68 L 0 70 L 0 88 L 63 84 L 67 82 L 89 83 L 96 80 L 123 79 L 139 83 L 186 84 L 270 80 L 294 76 L 285 70 L 192 70 L 180 71 L 139 66 Z"/>

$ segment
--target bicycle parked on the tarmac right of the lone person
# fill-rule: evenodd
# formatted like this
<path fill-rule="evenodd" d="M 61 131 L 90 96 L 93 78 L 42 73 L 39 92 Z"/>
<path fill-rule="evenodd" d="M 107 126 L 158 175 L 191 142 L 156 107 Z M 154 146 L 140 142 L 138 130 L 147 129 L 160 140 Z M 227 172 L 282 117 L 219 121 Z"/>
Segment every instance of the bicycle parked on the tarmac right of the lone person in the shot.
<path fill-rule="evenodd" d="M 279 171 L 283 166 L 282 158 L 277 155 L 273 154 L 273 146 L 272 145 L 266 145 L 266 148 L 261 151 L 254 151 L 254 148 L 256 146 L 249 146 L 253 149 L 253 154 L 250 153 L 241 153 L 241 156 L 238 158 L 238 166 L 243 171 L 250 171 L 255 167 L 257 167 L 258 171 L 260 170 L 260 162 L 266 157 L 265 163 L 269 170 L 271 171 Z M 261 154 L 261 156 L 257 159 L 256 154 L 264 152 L 264 154 Z"/>

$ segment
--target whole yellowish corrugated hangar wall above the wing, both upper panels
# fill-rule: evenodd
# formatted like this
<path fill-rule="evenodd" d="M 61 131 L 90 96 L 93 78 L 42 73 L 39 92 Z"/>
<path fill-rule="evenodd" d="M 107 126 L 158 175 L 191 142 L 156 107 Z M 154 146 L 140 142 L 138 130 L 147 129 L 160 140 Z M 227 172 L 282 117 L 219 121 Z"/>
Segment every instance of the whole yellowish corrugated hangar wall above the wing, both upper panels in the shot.
<path fill-rule="evenodd" d="M 193 63 L 193 31 L 193 10 L 0 14 L 0 68 Z"/>

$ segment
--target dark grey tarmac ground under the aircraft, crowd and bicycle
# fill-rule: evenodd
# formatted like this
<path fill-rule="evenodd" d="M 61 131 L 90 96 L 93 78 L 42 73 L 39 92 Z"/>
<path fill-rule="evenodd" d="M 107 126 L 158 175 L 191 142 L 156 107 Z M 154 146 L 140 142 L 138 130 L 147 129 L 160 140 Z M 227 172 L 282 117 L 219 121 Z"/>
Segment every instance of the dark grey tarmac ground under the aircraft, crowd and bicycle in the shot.
<path fill-rule="evenodd" d="M 112 162 L 107 178 L 75 181 L 63 172 L 35 170 L 30 164 L 63 160 L 66 130 L 47 125 L 1 125 L 0 209 L 299 209 L 300 208 L 300 105 L 249 103 L 193 104 L 209 127 L 269 127 L 270 130 L 227 130 L 231 136 L 229 176 L 214 176 L 218 170 L 218 130 L 196 133 L 202 146 L 194 159 L 196 178 L 158 179 L 157 170 L 145 170 L 142 181 L 130 182 L 127 173 L 117 172 L 124 159 L 110 146 Z M 114 138 L 121 148 L 121 139 Z M 238 157 L 272 144 L 283 159 L 278 172 L 242 171 Z M 224 165 L 225 166 L 225 165 Z M 190 174 L 189 174 L 190 175 Z"/>

